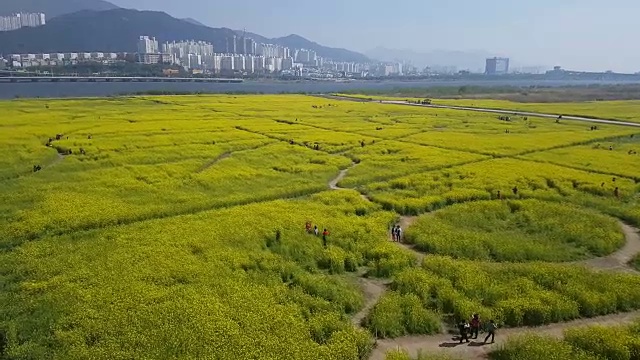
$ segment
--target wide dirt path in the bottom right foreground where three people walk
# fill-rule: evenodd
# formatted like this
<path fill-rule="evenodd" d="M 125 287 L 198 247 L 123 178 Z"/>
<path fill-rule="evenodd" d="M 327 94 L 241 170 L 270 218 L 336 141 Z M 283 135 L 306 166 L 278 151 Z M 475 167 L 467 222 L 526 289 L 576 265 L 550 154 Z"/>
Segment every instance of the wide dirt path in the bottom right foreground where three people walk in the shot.
<path fill-rule="evenodd" d="M 567 323 L 552 324 L 541 327 L 523 327 L 511 329 L 498 329 L 495 344 L 484 345 L 484 337 L 480 334 L 478 340 L 472 340 L 469 344 L 459 344 L 452 335 L 433 336 L 405 336 L 398 339 L 384 339 L 376 342 L 376 348 L 371 353 L 369 360 L 384 360 L 385 354 L 389 350 L 403 349 L 412 357 L 418 355 L 419 351 L 424 353 L 445 353 L 461 357 L 463 359 L 486 359 L 490 351 L 504 344 L 508 337 L 527 332 L 534 332 L 539 335 L 548 335 L 561 338 L 564 330 L 571 327 L 588 325 L 615 326 L 634 322 L 640 317 L 640 311 L 625 314 L 600 316 L 592 319 L 580 319 Z"/>

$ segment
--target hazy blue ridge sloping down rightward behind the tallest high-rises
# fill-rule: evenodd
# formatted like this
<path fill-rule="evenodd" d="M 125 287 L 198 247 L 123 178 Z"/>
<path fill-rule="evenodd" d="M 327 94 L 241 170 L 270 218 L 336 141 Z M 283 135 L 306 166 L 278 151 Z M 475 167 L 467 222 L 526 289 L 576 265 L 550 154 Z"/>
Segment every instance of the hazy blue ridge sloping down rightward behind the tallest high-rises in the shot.
<path fill-rule="evenodd" d="M 244 32 L 237 31 L 236 33 L 238 36 L 241 36 Z M 271 38 L 271 39 L 258 34 L 254 34 L 254 33 L 246 33 L 246 36 L 254 39 L 258 43 L 277 44 L 277 45 L 286 46 L 291 49 L 313 50 L 322 57 L 333 59 L 336 61 L 349 61 L 349 62 L 369 61 L 369 58 L 367 58 L 367 56 L 364 54 L 347 50 L 347 49 L 330 48 L 327 46 L 323 46 L 295 34 L 291 34 L 291 35 L 279 37 L 279 38 Z"/>

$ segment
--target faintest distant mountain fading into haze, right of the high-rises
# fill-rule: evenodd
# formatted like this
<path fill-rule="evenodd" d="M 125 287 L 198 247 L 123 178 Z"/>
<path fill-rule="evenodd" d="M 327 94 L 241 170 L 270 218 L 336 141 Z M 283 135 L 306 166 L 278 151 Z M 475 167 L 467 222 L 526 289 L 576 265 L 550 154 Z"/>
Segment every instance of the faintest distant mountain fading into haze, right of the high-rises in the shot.
<path fill-rule="evenodd" d="M 434 50 L 429 52 L 416 52 L 412 50 L 397 50 L 378 47 L 366 52 L 372 59 L 380 61 L 409 61 L 414 66 L 455 66 L 460 70 L 483 69 L 485 60 L 495 56 L 485 51 L 445 51 Z"/>

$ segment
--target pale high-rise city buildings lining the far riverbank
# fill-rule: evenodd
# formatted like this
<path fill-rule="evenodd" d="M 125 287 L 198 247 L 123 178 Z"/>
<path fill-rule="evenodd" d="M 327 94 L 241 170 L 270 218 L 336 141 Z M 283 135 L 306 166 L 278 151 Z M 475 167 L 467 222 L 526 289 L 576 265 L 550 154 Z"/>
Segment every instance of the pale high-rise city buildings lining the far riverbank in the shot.
<path fill-rule="evenodd" d="M 44 15 L 43 15 L 44 21 Z M 226 41 L 226 52 L 216 52 L 205 41 L 172 41 L 160 44 L 150 36 L 140 36 L 137 53 L 51 53 L 9 55 L 7 65 L 14 68 L 62 66 L 82 62 L 104 65 L 123 61 L 142 64 L 177 65 L 194 74 L 249 76 L 252 74 L 281 74 L 306 78 L 351 78 L 390 76 L 433 76 L 459 74 L 455 68 L 428 67 L 419 70 L 410 64 L 340 62 L 322 58 L 309 49 L 290 49 L 277 44 L 257 43 L 251 38 L 233 36 Z M 485 74 L 509 73 L 508 58 L 486 59 Z"/>

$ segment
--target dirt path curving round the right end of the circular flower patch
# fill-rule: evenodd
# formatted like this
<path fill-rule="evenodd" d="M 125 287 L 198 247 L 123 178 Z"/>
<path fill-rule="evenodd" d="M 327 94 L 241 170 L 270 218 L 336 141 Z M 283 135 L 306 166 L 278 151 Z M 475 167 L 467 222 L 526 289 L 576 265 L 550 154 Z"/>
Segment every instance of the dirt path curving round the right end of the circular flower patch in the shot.
<path fill-rule="evenodd" d="M 620 222 L 620 227 L 625 237 L 625 245 L 613 254 L 601 258 L 589 259 L 577 262 L 576 264 L 600 270 L 616 270 L 629 273 L 638 273 L 637 270 L 629 266 L 629 261 L 640 253 L 640 230 L 633 226 Z"/>

